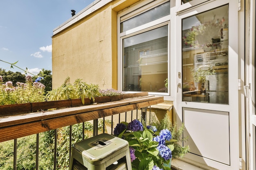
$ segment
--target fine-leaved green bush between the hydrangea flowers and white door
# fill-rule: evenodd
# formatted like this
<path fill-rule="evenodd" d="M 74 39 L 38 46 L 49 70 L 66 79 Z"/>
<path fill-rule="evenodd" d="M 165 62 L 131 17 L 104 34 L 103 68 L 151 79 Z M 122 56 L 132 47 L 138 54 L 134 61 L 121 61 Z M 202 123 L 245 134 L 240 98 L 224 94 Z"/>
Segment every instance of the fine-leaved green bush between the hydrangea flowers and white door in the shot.
<path fill-rule="evenodd" d="M 152 123 L 157 129 L 168 129 L 172 134 L 172 139 L 175 141 L 171 142 L 174 149 L 172 151 L 173 158 L 184 157 L 187 152 L 189 152 L 189 146 L 182 146 L 182 142 L 187 141 L 188 137 L 183 137 L 183 131 L 185 129 L 184 124 L 177 128 L 177 123 L 172 124 L 168 115 L 166 114 L 164 119 L 160 122 Z"/>

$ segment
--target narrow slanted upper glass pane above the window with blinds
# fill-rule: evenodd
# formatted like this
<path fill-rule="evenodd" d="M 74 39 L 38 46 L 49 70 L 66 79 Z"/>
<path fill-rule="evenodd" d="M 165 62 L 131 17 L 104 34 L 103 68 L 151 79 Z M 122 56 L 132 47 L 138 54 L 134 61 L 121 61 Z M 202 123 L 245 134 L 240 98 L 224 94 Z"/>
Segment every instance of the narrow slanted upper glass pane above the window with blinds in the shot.
<path fill-rule="evenodd" d="M 157 20 L 166 15 L 170 15 L 170 2 L 166 2 L 162 5 L 159 5 L 158 7 L 155 7 L 140 15 L 130 18 L 129 20 L 121 22 L 121 33 L 129 29 L 133 29 L 137 26 L 146 24 L 148 22 Z M 121 17 L 121 20 L 122 20 L 122 17 Z"/>

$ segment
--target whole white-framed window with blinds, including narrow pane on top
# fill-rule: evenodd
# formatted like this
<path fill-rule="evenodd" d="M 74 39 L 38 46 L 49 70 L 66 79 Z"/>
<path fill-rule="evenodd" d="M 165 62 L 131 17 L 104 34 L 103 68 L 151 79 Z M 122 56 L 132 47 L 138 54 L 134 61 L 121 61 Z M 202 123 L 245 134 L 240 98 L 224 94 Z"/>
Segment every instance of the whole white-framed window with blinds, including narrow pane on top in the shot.
<path fill-rule="evenodd" d="M 170 2 L 148 6 L 120 17 L 121 89 L 168 94 Z"/>

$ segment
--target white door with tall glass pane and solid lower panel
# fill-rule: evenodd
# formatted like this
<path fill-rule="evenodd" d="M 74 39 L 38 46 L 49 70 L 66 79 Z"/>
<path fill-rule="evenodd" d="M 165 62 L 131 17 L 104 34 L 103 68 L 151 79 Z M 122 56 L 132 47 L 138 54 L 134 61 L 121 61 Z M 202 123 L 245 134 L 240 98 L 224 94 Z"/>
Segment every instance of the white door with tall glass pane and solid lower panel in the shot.
<path fill-rule="evenodd" d="M 237 2 L 208 1 L 177 16 L 177 122 L 190 146 L 184 160 L 239 169 Z"/>

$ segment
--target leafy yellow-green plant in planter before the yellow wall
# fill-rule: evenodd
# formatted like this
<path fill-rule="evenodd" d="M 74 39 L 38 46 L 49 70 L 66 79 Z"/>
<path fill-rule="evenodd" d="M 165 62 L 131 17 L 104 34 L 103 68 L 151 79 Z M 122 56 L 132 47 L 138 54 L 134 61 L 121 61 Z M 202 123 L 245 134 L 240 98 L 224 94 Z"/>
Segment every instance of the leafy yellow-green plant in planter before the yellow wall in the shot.
<path fill-rule="evenodd" d="M 84 98 L 88 97 L 94 101 L 94 97 L 100 95 L 99 91 L 98 85 L 86 84 L 81 79 L 76 79 L 74 84 L 70 84 L 70 77 L 67 77 L 61 87 L 49 91 L 46 98 L 48 101 L 81 98 L 84 104 Z"/>

